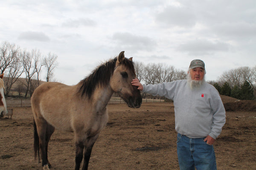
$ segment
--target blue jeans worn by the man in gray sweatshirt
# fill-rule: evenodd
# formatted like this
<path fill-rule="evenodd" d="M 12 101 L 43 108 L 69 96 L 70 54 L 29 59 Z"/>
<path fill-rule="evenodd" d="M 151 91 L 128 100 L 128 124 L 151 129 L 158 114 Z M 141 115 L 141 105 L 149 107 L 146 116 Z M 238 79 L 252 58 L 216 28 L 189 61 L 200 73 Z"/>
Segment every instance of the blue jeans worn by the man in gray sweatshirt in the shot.
<path fill-rule="evenodd" d="M 217 170 L 215 153 L 212 145 L 204 142 L 205 138 L 189 138 L 177 135 L 177 154 L 180 170 Z"/>

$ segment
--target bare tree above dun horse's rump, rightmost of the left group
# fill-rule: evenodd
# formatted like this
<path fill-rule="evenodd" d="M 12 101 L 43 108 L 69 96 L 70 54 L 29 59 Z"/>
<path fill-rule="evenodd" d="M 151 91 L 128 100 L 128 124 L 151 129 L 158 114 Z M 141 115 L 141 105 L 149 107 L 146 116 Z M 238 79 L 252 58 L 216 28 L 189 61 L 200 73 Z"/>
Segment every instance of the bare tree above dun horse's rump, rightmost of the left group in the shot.
<path fill-rule="evenodd" d="M 49 82 L 53 77 L 53 70 L 58 66 L 58 56 L 49 52 L 48 56 L 44 58 L 44 66 L 47 70 L 46 81 Z"/>

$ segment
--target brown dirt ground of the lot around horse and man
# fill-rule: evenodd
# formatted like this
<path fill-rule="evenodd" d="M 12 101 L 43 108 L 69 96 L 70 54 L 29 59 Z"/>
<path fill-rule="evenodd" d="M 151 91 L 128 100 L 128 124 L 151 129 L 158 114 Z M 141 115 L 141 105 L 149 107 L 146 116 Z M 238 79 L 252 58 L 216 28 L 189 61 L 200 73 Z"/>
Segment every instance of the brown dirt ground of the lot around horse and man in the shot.
<path fill-rule="evenodd" d="M 218 170 L 256 170 L 256 101 L 221 96 L 227 122 L 214 144 Z M 179 170 L 173 103 L 138 109 L 108 105 L 108 125 L 96 141 L 89 170 Z M 34 160 L 31 108 L 0 119 L 0 170 L 41 170 Z M 73 170 L 73 133 L 55 130 L 49 142 L 52 170 Z"/>

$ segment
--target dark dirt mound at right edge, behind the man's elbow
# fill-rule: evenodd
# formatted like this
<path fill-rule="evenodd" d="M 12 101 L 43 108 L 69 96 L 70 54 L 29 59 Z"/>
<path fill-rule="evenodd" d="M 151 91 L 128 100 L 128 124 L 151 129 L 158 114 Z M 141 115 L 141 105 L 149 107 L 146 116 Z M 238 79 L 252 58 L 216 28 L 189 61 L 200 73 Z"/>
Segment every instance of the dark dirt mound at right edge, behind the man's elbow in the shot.
<path fill-rule="evenodd" d="M 221 95 L 226 111 L 256 111 L 256 100 L 239 100 Z"/>

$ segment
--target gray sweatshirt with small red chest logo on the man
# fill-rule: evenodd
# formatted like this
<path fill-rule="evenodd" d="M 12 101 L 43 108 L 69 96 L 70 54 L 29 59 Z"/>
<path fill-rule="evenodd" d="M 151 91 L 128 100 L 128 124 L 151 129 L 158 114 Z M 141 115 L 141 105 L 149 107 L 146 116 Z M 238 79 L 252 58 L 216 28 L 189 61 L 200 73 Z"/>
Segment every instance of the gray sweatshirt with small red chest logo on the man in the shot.
<path fill-rule="evenodd" d="M 189 138 L 209 135 L 216 139 L 226 122 L 221 97 L 206 82 L 193 89 L 189 87 L 187 80 L 143 85 L 143 92 L 172 99 L 175 107 L 175 130 Z"/>

